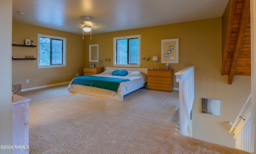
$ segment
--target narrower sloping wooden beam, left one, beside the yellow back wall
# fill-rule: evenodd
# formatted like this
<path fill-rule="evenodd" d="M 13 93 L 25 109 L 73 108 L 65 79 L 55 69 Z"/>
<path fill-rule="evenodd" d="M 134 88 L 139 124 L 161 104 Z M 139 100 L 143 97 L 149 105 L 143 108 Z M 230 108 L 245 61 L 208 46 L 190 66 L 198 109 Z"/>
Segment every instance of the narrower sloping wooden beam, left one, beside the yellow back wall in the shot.
<path fill-rule="evenodd" d="M 226 60 L 227 60 L 227 55 L 228 55 L 228 47 L 229 47 L 229 43 L 230 43 L 230 37 L 231 37 L 234 15 L 235 15 L 235 10 L 236 10 L 236 0 L 232 0 L 231 5 L 232 6 L 231 6 L 230 16 L 229 16 L 229 20 L 228 20 L 227 36 L 226 36 L 226 40 L 225 40 L 226 41 L 225 49 L 224 49 L 224 53 L 222 55 L 221 75 L 224 75 L 224 71 L 225 71 Z"/>

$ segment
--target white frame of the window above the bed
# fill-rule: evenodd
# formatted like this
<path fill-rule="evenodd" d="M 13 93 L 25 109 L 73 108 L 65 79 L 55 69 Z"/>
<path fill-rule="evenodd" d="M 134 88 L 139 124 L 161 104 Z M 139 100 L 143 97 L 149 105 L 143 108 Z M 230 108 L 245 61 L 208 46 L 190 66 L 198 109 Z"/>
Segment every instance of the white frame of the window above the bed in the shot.
<path fill-rule="evenodd" d="M 133 38 L 138 38 L 139 39 L 139 63 L 138 64 L 117 64 L 116 63 L 116 40 L 118 39 L 133 39 Z M 115 37 L 113 38 L 113 66 L 115 67 L 140 67 L 140 57 L 141 57 L 141 51 L 140 51 L 140 35 L 132 35 L 132 36 L 121 36 L 121 37 Z"/>

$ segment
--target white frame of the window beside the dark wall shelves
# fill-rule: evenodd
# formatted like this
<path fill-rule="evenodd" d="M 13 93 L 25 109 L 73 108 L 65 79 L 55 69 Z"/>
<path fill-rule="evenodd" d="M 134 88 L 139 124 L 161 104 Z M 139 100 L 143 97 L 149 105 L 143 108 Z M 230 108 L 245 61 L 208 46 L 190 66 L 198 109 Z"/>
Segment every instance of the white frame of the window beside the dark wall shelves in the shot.
<path fill-rule="evenodd" d="M 44 38 L 51 38 L 51 39 L 60 39 L 62 40 L 63 43 L 63 49 L 62 49 L 62 63 L 63 64 L 54 64 L 54 65 L 40 65 L 40 37 Z M 50 36 L 50 35 L 45 35 L 45 34 L 37 34 L 37 67 L 39 69 L 41 68 L 55 68 L 55 67 L 66 67 L 67 61 L 66 61 L 66 38 L 58 37 L 58 36 Z"/>

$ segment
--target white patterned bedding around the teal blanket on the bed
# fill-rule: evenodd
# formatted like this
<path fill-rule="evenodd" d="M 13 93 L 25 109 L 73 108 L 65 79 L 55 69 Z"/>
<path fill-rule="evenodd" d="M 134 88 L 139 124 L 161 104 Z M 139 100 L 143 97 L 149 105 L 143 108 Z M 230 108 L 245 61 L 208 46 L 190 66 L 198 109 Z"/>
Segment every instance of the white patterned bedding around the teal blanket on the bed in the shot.
<path fill-rule="evenodd" d="M 119 75 L 112 75 L 112 71 L 114 70 L 107 70 L 94 76 L 130 79 L 130 81 L 121 82 L 117 92 L 107 90 L 107 89 L 101 89 L 97 87 L 75 85 L 71 83 L 68 85 L 68 91 L 71 91 L 71 89 L 74 89 L 76 91 L 84 91 L 86 93 L 97 93 L 97 94 L 103 94 L 103 95 L 120 95 L 123 98 L 124 95 L 126 95 L 127 93 L 130 93 L 146 85 L 147 75 L 145 73 L 142 73 L 140 71 L 128 71 L 127 75 L 119 76 Z"/>

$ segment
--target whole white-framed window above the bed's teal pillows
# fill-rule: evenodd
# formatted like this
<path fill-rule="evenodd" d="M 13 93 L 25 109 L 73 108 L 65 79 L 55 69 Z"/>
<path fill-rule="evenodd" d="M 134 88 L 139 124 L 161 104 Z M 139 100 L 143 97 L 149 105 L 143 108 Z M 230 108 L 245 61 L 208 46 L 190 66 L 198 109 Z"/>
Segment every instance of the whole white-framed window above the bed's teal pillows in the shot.
<path fill-rule="evenodd" d="M 140 35 L 113 38 L 114 66 L 140 67 Z"/>

